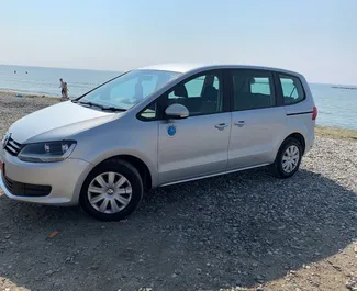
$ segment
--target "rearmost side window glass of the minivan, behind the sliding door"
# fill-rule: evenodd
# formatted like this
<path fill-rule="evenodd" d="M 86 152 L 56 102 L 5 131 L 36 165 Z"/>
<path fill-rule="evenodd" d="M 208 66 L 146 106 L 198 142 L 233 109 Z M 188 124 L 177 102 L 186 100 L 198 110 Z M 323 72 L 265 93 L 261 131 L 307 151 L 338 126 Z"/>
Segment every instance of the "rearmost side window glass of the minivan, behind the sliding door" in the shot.
<path fill-rule="evenodd" d="M 283 103 L 286 105 L 295 104 L 304 100 L 305 94 L 301 81 L 297 77 L 279 75 Z"/>

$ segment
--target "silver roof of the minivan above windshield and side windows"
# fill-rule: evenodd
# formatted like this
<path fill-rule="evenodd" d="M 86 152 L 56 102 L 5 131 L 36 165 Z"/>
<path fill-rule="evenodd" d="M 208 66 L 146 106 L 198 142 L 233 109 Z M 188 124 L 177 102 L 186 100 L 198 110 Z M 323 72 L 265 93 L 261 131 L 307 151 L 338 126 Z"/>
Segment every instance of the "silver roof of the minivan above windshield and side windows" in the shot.
<path fill-rule="evenodd" d="M 197 64 L 197 63 L 171 63 L 171 64 L 159 64 L 152 65 L 147 67 L 142 67 L 140 69 L 145 70 L 167 70 L 167 71 L 177 71 L 186 74 L 194 70 L 205 70 L 205 69 L 261 69 L 261 70 L 272 70 L 279 72 L 286 72 L 291 75 L 301 76 L 297 71 L 286 70 L 274 67 L 264 67 L 264 66 L 250 66 L 250 65 L 234 65 L 234 64 Z"/>

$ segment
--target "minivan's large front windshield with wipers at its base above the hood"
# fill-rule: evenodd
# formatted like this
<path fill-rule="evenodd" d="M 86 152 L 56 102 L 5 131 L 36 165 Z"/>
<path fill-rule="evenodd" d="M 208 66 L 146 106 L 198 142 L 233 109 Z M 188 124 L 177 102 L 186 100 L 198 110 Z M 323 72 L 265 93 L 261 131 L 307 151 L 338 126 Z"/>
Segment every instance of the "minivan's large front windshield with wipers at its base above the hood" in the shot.
<path fill-rule="evenodd" d="M 177 78 L 180 72 L 166 70 L 132 70 L 76 100 L 101 109 L 127 110 Z"/>

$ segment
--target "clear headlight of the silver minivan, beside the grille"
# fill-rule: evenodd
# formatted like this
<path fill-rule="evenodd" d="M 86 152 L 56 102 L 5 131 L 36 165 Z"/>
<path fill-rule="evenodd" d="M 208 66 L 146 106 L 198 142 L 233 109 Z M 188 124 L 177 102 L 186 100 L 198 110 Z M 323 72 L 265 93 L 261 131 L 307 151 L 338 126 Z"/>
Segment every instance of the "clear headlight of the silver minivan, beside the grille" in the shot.
<path fill-rule="evenodd" d="M 69 157 L 76 144 L 72 141 L 29 144 L 19 153 L 19 158 L 31 163 L 60 161 Z"/>

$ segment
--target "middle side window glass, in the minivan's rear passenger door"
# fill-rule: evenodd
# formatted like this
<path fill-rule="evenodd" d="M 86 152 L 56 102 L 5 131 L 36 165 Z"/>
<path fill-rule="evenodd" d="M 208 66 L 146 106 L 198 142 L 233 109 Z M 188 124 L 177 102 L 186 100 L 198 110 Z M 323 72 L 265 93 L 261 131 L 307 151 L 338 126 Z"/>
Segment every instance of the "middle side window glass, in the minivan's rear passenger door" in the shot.
<path fill-rule="evenodd" d="M 250 110 L 276 105 L 274 79 L 270 71 L 233 70 L 233 109 Z"/>

